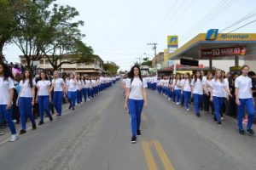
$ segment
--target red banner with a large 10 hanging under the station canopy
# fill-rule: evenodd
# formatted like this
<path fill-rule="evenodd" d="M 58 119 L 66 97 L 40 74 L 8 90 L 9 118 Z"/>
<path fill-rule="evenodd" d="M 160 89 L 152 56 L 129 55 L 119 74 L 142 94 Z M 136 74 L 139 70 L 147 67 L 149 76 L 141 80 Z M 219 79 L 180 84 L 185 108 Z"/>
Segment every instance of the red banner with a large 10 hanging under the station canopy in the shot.
<path fill-rule="evenodd" d="M 232 48 L 212 48 L 201 49 L 201 58 L 224 57 L 229 55 L 245 55 L 247 48 L 245 46 Z"/>

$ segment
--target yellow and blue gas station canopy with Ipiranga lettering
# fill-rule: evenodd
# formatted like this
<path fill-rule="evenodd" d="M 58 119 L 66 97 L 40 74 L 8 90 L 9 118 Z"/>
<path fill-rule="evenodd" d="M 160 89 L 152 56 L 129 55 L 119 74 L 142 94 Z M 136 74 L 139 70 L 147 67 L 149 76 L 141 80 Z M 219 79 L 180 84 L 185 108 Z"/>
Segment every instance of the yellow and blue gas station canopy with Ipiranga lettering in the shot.
<path fill-rule="evenodd" d="M 201 33 L 170 54 L 170 59 L 256 59 L 256 33 Z M 204 52 L 204 53 L 203 53 Z"/>

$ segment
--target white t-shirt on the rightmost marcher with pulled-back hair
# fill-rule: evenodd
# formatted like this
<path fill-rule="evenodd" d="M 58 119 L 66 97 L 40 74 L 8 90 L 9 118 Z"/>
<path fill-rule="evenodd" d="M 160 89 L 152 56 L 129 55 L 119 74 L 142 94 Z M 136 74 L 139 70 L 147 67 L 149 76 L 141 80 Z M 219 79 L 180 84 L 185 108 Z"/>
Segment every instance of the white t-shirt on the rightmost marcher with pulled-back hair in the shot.
<path fill-rule="evenodd" d="M 252 79 L 250 77 L 240 76 L 236 78 L 235 88 L 239 88 L 238 98 L 239 99 L 250 99 L 253 98 L 251 94 Z"/>

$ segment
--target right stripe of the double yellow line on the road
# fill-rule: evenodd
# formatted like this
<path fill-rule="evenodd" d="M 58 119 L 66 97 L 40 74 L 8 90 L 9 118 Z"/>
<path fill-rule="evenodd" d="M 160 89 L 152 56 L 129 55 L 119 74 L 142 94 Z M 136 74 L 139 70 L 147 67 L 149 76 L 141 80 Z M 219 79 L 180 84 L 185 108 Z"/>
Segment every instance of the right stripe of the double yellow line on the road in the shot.
<path fill-rule="evenodd" d="M 159 141 L 154 140 L 154 147 L 158 153 L 158 155 L 160 156 L 160 160 L 162 161 L 164 167 L 166 170 L 174 170 L 173 166 L 172 166 L 172 162 L 170 161 L 169 157 L 167 156 L 165 150 L 163 149 L 162 145 L 160 144 Z"/>

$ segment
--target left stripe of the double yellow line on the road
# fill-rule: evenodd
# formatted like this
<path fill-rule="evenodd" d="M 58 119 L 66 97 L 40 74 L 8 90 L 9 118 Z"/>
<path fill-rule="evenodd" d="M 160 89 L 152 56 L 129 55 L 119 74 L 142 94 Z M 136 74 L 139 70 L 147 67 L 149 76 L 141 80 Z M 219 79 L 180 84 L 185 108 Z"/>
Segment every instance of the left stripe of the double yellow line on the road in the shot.
<path fill-rule="evenodd" d="M 148 164 L 148 170 L 157 170 L 156 163 L 154 161 L 154 156 L 150 150 L 149 144 L 147 140 L 143 140 L 143 151 L 146 157 L 146 161 Z"/>

